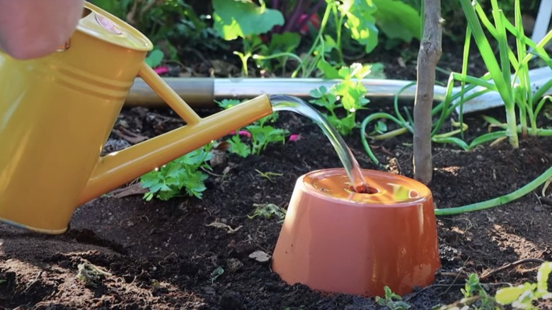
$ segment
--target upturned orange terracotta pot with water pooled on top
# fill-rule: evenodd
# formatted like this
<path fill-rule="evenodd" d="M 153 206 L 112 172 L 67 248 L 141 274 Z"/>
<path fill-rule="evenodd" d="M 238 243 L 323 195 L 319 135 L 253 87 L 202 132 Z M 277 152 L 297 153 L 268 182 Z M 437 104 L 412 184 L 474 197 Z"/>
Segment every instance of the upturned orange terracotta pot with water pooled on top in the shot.
<path fill-rule="evenodd" d="M 352 192 L 338 168 L 297 180 L 272 258 L 282 280 L 364 296 L 433 282 L 441 265 L 430 190 L 404 176 L 362 173 L 376 193 Z"/>

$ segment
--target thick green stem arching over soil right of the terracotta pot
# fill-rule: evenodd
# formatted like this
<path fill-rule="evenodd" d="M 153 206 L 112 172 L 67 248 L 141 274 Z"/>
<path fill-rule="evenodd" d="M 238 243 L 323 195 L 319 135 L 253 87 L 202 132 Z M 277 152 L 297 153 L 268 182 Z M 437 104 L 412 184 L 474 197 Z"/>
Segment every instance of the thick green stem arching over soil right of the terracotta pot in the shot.
<path fill-rule="evenodd" d="M 514 192 L 503 195 L 500 197 L 493 198 L 491 200 L 486 200 L 483 202 L 477 202 L 471 205 L 465 205 L 464 207 L 454 207 L 449 209 L 435 209 L 435 215 L 454 215 L 454 214 L 461 214 L 466 212 L 473 212 L 473 211 L 480 211 L 483 209 L 490 209 L 493 207 L 498 207 L 500 205 L 504 205 L 508 202 L 512 202 L 514 200 L 517 200 L 524 195 L 527 195 L 531 193 L 531 191 L 538 188 L 541 184 L 546 182 L 549 178 L 552 178 L 552 167 L 548 168 L 548 170 L 544 171 L 543 174 L 541 174 L 538 178 L 531 181 L 531 183 L 528 183 L 522 188 L 519 188 L 518 190 L 515 190 Z"/>

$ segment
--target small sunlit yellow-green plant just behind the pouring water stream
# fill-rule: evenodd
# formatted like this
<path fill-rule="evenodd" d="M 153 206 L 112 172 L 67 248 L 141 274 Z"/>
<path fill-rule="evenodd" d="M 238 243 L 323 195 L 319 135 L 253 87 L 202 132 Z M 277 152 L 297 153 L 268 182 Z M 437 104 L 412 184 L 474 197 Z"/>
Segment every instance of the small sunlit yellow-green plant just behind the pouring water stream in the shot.
<path fill-rule="evenodd" d="M 321 86 L 311 91 L 310 103 L 325 108 L 329 114 L 324 114 L 330 125 L 335 127 L 340 134 L 348 135 L 357 127 L 355 115 L 357 110 L 364 109 L 369 103 L 365 98 L 367 90 L 362 84 L 362 79 L 372 73 L 371 65 L 352 64 L 350 67 L 342 67 L 338 75 L 342 79 L 330 89 Z M 340 117 L 338 110 L 345 110 L 345 116 Z"/>

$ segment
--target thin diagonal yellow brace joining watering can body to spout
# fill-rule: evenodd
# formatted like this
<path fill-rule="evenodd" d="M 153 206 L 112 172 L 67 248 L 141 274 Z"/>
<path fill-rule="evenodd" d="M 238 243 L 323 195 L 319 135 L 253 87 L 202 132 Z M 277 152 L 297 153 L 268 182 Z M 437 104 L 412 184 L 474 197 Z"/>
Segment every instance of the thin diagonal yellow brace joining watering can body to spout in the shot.
<path fill-rule="evenodd" d="M 185 103 L 185 101 L 178 96 L 178 93 L 168 86 L 161 76 L 159 76 L 154 69 L 151 69 L 146 62 L 142 62 L 138 76 L 141 77 L 144 82 L 146 82 L 146 84 L 148 84 L 149 87 L 151 87 L 176 114 L 178 114 L 178 116 L 182 117 L 186 124 L 195 125 L 200 122 L 200 115 L 197 115 L 197 113 L 190 108 L 188 103 Z"/>

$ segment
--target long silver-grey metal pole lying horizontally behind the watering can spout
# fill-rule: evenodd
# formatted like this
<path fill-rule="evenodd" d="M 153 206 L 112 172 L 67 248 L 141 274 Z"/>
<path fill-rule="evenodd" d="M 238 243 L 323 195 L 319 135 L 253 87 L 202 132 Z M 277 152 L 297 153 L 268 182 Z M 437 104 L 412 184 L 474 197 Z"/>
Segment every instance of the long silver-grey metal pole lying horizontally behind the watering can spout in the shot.
<path fill-rule="evenodd" d="M 549 67 L 532 69 L 529 71 L 531 89 L 536 90 L 552 79 L 552 70 Z M 512 76 L 513 79 L 513 76 Z M 215 100 L 236 98 L 250 99 L 263 94 L 296 96 L 309 98 L 310 91 L 320 86 L 330 88 L 341 80 L 326 79 L 255 79 L 255 78 L 233 78 L 233 79 L 211 79 L 211 78 L 163 78 L 193 108 L 209 108 L 216 106 Z M 367 89 L 367 97 L 393 98 L 401 88 L 413 84 L 413 81 L 388 80 L 388 79 L 364 79 L 362 84 Z M 435 101 L 443 101 L 447 89 L 443 86 L 435 86 Z M 459 86 L 453 88 L 453 93 L 459 92 Z M 470 93 L 483 90 L 482 87 L 475 87 Z M 415 85 L 406 88 L 401 92 L 399 98 L 415 98 Z M 552 95 L 552 90 L 546 92 Z M 496 92 L 485 93 L 464 103 L 464 114 L 473 113 L 479 110 L 496 108 L 504 103 Z M 129 96 L 125 103 L 127 106 L 151 106 L 166 107 L 166 104 L 157 94 L 144 83 L 142 79 L 135 79 L 130 89 Z"/>

